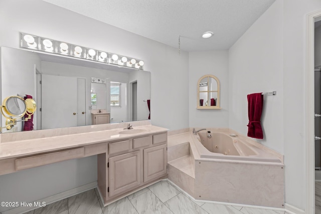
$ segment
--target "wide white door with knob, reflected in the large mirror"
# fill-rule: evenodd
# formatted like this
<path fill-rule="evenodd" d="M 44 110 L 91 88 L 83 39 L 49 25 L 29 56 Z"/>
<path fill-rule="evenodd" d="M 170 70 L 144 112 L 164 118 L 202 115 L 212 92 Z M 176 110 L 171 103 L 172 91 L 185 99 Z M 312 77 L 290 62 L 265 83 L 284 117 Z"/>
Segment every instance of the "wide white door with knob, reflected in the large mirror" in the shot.
<path fill-rule="evenodd" d="M 42 75 L 42 129 L 77 126 L 77 78 Z"/>

